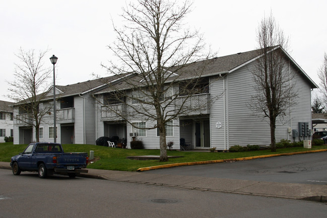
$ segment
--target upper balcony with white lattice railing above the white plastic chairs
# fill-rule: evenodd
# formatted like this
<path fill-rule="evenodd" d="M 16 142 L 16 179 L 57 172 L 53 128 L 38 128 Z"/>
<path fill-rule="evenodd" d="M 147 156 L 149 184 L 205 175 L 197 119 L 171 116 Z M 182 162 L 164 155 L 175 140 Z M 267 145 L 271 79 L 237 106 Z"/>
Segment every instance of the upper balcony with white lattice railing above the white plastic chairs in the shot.
<path fill-rule="evenodd" d="M 122 116 L 126 116 L 125 104 L 113 104 L 113 105 L 101 106 L 102 121 L 121 120 L 122 118 L 118 114 L 121 114 Z"/>

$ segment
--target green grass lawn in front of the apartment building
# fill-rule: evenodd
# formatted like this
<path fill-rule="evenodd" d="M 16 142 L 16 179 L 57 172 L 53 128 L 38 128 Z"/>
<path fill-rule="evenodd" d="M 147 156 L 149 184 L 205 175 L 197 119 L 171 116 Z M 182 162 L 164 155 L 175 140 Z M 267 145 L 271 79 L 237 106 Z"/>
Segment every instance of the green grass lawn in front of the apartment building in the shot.
<path fill-rule="evenodd" d="M 99 159 L 96 162 L 88 165 L 92 169 L 104 170 L 120 170 L 120 171 L 136 171 L 142 167 L 157 166 L 172 163 L 196 162 L 196 161 L 211 161 L 221 159 L 243 158 L 260 155 L 281 154 L 289 152 L 301 152 L 309 150 L 327 149 L 326 145 L 314 146 L 312 149 L 304 149 L 303 147 L 278 149 L 272 153 L 270 150 L 261 150 L 253 152 L 180 152 L 167 151 L 168 156 L 183 156 L 182 158 L 171 158 L 168 162 L 159 162 L 157 160 L 128 160 L 127 156 L 140 155 L 159 155 L 159 150 L 131 150 L 131 149 L 114 149 L 102 146 L 93 146 L 89 144 L 63 144 L 65 152 L 87 152 L 94 151 L 95 158 Z M 14 155 L 23 152 L 26 144 L 13 144 L 13 142 L 0 143 L 0 161 L 10 162 L 10 158 Z"/>

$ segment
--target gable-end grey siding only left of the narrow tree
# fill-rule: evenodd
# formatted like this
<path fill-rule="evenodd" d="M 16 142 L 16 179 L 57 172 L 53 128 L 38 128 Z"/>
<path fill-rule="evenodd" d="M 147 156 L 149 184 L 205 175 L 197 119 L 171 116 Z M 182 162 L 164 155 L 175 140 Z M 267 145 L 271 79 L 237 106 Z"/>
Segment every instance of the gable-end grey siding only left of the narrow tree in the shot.
<path fill-rule="evenodd" d="M 226 81 L 228 83 L 229 148 L 236 144 L 240 146 L 270 144 L 270 127 L 267 120 L 254 116 L 248 107 L 255 86 L 249 67 L 244 66 L 231 72 Z"/>

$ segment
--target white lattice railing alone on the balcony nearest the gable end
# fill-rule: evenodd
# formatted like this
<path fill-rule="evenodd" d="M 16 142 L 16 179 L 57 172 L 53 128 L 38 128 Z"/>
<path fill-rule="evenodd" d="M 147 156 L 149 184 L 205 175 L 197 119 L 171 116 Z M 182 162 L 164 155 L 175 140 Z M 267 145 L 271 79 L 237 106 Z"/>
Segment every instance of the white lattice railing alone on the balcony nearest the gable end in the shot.
<path fill-rule="evenodd" d="M 180 96 L 175 100 L 175 108 L 179 109 L 181 106 L 183 110 L 206 110 L 210 108 L 209 105 L 210 94 L 197 94 L 192 96 Z"/>

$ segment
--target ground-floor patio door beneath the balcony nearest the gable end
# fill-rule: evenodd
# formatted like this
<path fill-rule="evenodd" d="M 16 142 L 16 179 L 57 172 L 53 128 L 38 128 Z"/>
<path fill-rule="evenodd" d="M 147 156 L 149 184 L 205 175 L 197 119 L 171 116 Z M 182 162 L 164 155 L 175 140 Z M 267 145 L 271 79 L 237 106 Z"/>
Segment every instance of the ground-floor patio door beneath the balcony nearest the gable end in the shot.
<path fill-rule="evenodd" d="M 209 120 L 201 120 L 195 122 L 195 147 L 210 147 L 210 122 Z"/>

